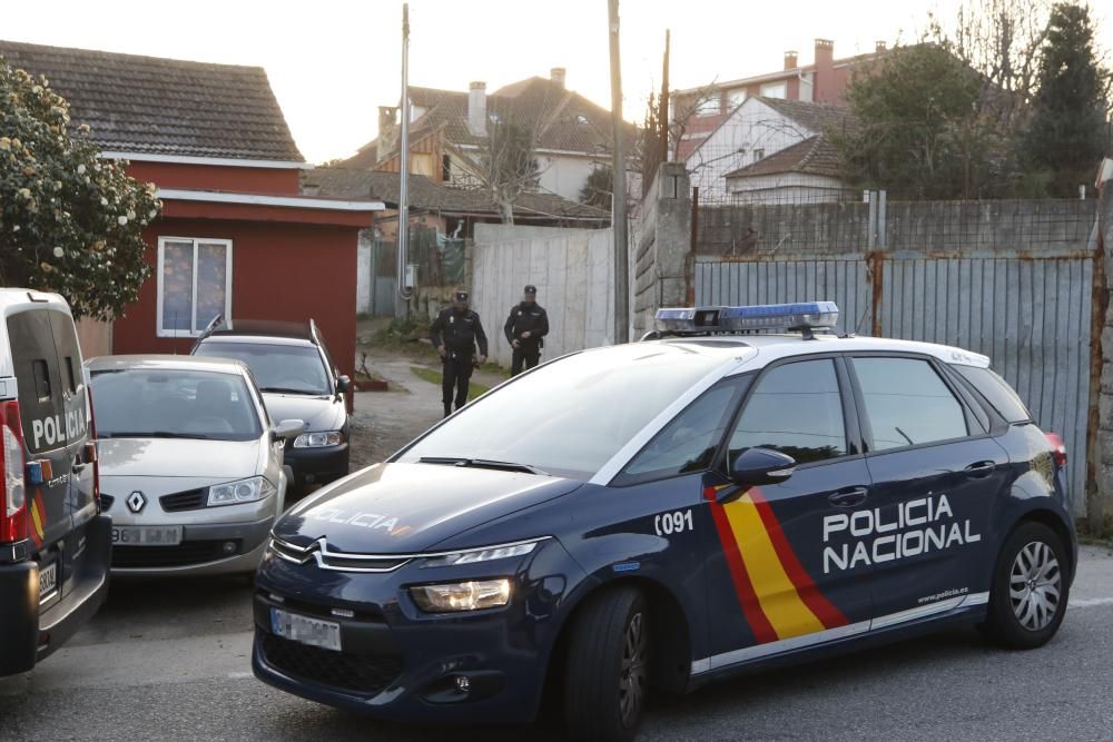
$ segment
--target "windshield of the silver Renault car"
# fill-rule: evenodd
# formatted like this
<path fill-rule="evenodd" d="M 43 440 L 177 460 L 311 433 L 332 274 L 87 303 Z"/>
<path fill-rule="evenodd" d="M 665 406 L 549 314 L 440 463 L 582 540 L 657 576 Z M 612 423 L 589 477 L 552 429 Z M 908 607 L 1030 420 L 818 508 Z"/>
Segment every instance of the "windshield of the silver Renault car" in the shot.
<path fill-rule="evenodd" d="M 92 373 L 101 438 L 253 441 L 263 435 L 246 379 L 238 374 L 146 368 Z"/>

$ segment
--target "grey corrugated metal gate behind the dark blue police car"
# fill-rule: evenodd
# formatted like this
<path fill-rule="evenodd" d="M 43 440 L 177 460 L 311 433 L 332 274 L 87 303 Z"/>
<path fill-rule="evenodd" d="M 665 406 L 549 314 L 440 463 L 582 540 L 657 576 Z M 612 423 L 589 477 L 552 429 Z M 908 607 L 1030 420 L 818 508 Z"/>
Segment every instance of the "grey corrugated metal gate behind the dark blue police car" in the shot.
<path fill-rule="evenodd" d="M 1093 260 L 993 253 L 697 259 L 697 305 L 829 299 L 840 330 L 976 350 L 1071 454 L 1071 497 L 1083 514 Z"/>

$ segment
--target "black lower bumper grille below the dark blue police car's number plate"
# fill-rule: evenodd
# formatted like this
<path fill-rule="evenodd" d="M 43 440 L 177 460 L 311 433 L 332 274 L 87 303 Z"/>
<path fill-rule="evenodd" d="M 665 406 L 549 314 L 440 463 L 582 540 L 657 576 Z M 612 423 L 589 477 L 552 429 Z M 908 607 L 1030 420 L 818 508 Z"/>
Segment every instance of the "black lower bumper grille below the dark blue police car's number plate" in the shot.
<path fill-rule="evenodd" d="M 400 656 L 334 652 L 266 632 L 260 644 L 264 661 L 276 670 L 296 680 L 362 695 L 377 695 L 402 674 Z"/>

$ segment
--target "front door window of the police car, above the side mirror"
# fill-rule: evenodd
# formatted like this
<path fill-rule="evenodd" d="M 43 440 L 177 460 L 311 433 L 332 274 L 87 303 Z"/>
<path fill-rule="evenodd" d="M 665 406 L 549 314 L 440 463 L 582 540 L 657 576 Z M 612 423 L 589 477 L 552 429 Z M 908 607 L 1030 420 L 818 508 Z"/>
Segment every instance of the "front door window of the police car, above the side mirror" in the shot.
<path fill-rule="evenodd" d="M 730 436 L 730 458 L 756 447 L 779 451 L 798 464 L 846 455 L 834 360 L 778 366 L 758 380 Z"/>

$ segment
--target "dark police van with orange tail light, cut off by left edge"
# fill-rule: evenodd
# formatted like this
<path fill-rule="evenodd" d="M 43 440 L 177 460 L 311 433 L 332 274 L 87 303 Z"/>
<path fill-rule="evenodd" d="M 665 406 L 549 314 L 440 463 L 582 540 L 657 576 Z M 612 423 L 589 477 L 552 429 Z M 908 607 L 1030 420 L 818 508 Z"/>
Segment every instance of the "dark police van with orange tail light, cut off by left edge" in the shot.
<path fill-rule="evenodd" d="M 0 289 L 0 676 L 31 670 L 108 591 L 111 524 L 73 318 Z"/>

